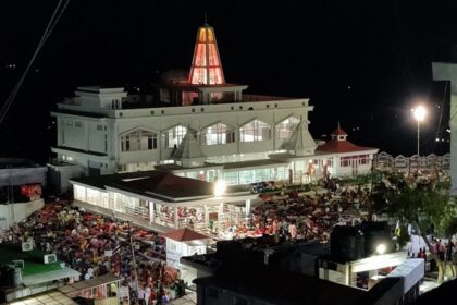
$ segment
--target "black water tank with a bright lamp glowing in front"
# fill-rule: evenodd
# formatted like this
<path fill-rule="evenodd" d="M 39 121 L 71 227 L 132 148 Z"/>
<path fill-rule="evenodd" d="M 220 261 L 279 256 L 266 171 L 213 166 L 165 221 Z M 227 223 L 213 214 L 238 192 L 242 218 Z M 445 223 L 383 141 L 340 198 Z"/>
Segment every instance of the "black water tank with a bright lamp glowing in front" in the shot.
<path fill-rule="evenodd" d="M 385 252 L 392 252 L 392 235 L 391 229 L 386 221 L 379 222 L 363 222 L 361 231 L 365 235 L 365 254 L 371 256 L 376 254 L 376 246 L 385 245 Z M 380 253 L 382 254 L 382 253 Z"/>

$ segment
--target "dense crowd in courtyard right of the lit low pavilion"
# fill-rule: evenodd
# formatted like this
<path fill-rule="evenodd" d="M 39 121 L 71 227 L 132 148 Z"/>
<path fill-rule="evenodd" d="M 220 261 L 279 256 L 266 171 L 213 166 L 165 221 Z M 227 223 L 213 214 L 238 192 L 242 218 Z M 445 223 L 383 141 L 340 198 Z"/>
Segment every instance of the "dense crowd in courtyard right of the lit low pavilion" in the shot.
<path fill-rule="evenodd" d="M 328 242 L 336 223 L 360 222 L 367 215 L 369 188 L 336 187 L 335 183 L 321 192 L 268 198 L 252 210 L 256 233 L 283 235 L 291 240 Z"/>

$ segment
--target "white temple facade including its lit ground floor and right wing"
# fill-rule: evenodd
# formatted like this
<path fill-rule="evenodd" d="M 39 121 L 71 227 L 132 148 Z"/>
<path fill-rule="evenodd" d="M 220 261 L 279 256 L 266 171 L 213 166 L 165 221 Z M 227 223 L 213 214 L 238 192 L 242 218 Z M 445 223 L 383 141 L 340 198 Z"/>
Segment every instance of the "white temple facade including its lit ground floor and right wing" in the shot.
<path fill-rule="evenodd" d="M 314 178 L 321 176 L 325 163 L 332 175 L 365 174 L 370 171 L 376 152 L 370 148 L 365 152 L 324 156 L 314 152 L 317 145 L 309 145 L 307 150 L 285 147 L 299 125 L 300 132 L 312 141 L 307 118 L 313 107 L 308 99 L 104 109 L 89 107 L 90 100 L 85 100 L 85 90 L 96 91 L 100 98 L 95 100 L 102 100 L 104 89 L 78 89 L 78 97 L 60 103 L 59 110 L 52 112 L 58 124 L 58 145 L 52 151 L 58 154 L 60 162 L 82 166 L 85 174 L 134 172 L 174 163 L 175 174 L 206 181 L 220 178 L 227 184 L 270 180 L 307 182 L 311 179 L 310 163 Z M 114 90 L 122 101 L 123 89 L 110 89 L 111 97 Z M 119 107 L 122 108 L 122 102 Z M 195 133 L 205 162 L 178 167 L 180 160 L 173 154 L 189 129 Z M 286 158 L 277 158 L 281 154 Z M 344 167 L 339 160 L 357 156 L 360 158 L 350 160 L 350 167 Z M 269 162 L 259 166 L 259 160 Z"/>

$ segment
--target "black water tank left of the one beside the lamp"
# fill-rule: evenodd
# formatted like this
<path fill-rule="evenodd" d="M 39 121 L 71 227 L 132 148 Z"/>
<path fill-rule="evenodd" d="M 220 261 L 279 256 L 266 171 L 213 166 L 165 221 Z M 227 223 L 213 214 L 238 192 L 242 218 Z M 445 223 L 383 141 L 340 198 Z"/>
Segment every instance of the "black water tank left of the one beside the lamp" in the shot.
<path fill-rule="evenodd" d="M 330 253 L 338 261 L 363 258 L 363 234 L 358 227 L 336 225 L 330 235 Z"/>

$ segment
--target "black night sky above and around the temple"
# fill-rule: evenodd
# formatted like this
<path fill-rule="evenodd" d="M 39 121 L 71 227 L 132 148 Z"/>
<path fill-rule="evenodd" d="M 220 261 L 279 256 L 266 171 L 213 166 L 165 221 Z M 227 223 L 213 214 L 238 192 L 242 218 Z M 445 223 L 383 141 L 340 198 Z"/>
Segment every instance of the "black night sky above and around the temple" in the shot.
<path fill-rule="evenodd" d="M 1 2 L 0 103 L 55 4 Z M 457 1 L 73 0 L 0 126 L 0 156 L 46 161 L 55 138 L 49 111 L 76 86 L 141 86 L 158 72 L 188 70 L 205 12 L 225 80 L 249 93 L 310 98 L 314 138 L 339 121 L 356 144 L 413 154 L 410 108 L 421 97 L 432 112 L 422 149 L 448 150 L 434 141 L 445 84 L 431 81 L 431 62 L 457 60 Z M 444 106 L 440 137 L 447 139 Z"/>

